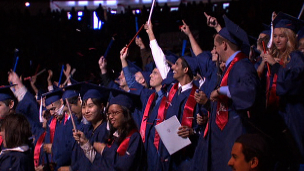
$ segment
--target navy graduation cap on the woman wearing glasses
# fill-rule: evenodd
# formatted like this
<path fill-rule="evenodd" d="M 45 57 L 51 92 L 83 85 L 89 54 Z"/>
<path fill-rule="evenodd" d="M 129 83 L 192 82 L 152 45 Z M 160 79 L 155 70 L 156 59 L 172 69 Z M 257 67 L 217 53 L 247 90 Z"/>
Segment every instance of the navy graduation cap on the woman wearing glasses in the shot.
<path fill-rule="evenodd" d="M 138 95 L 131 94 L 125 91 L 111 89 L 112 98 L 109 100 L 111 104 L 119 104 L 134 111 L 135 107 L 141 106 L 140 98 Z"/>

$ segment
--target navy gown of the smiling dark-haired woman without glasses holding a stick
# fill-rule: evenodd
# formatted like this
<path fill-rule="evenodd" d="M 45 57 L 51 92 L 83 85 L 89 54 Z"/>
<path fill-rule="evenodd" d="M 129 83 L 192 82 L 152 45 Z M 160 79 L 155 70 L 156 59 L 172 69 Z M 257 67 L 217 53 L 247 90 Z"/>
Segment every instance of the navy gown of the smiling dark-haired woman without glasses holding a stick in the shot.
<path fill-rule="evenodd" d="M 83 133 L 88 138 L 91 145 L 94 142 L 105 142 L 106 138 L 108 137 L 108 131 L 106 129 L 106 121 L 103 121 L 101 125 L 99 125 L 95 130 L 93 130 L 93 126 L 91 124 L 84 125 Z M 75 155 L 77 155 L 76 164 L 72 166 L 73 171 L 90 171 L 92 168 L 92 163 L 90 160 L 85 156 L 83 149 L 77 144 Z M 101 158 L 101 154 L 96 153 L 96 157 Z"/>

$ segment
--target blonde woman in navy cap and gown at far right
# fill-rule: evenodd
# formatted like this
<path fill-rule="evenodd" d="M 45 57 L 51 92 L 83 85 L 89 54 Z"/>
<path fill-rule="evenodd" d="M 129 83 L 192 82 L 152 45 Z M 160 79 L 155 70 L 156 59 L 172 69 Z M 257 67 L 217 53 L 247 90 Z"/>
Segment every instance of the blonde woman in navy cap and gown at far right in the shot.
<path fill-rule="evenodd" d="M 304 164 L 304 55 L 297 50 L 297 31 L 304 22 L 285 13 L 278 13 L 272 21 L 273 33 L 270 50 L 264 55 L 265 62 L 271 66 L 268 103 L 277 106 L 278 114 L 294 140 L 289 139 L 288 146 L 297 164 Z M 271 90 L 274 93 L 271 94 Z M 295 141 L 295 143 L 293 143 Z M 300 153 L 300 154 L 299 154 Z"/>

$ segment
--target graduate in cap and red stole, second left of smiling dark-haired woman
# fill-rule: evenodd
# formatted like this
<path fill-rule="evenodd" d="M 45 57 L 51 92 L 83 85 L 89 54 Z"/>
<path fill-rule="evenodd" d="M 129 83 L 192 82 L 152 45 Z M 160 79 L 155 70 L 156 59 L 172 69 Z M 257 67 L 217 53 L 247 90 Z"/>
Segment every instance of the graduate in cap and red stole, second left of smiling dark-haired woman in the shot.
<path fill-rule="evenodd" d="M 72 126 L 68 113 L 64 110 L 62 90 L 55 90 L 44 94 L 45 106 L 52 115 L 47 122 L 46 136 L 43 150 L 48 154 L 49 162 L 56 165 L 55 169 L 70 165 L 71 147 L 73 139 Z"/>

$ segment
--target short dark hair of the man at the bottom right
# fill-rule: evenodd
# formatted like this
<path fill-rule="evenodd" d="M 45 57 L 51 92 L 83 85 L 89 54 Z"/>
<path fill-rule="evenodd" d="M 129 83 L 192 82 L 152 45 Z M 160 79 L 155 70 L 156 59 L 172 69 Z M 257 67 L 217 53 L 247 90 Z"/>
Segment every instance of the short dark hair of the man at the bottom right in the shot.
<path fill-rule="evenodd" d="M 258 169 L 260 171 L 268 170 L 269 147 L 266 140 L 259 134 L 244 134 L 236 139 L 236 142 L 242 144 L 242 153 L 245 161 L 249 162 L 253 157 L 259 159 Z"/>

